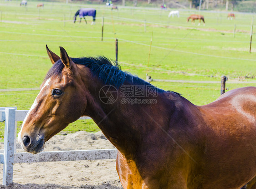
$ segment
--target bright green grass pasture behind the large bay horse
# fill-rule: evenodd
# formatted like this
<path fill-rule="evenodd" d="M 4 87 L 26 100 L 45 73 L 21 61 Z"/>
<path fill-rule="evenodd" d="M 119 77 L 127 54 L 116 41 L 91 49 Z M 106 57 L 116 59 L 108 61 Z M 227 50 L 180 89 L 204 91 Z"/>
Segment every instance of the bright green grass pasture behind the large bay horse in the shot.
<path fill-rule="evenodd" d="M 180 18 L 168 18 L 169 10 L 160 9 L 119 7 L 119 11 L 111 13 L 103 5 L 46 2 L 43 9 L 37 9 L 36 1 L 29 1 L 26 7 L 19 3 L 0 0 L 0 89 L 39 87 L 52 65 L 46 44 L 56 54 L 59 46 L 63 46 L 71 57 L 104 55 L 115 59 L 114 30 L 123 71 L 143 79 L 153 32 L 149 75 L 154 79 L 220 81 L 225 75 L 229 81 L 256 81 L 255 36 L 249 53 L 254 15 L 236 13 L 236 20 L 227 20 L 224 12 L 201 11 L 206 24 L 197 26 L 198 21 L 195 25 L 186 22 L 195 10 L 180 10 Z M 84 20 L 73 24 L 75 12 L 89 6 L 97 10 L 96 24 L 90 25 L 92 17 L 87 17 L 87 25 Z M 220 84 L 153 82 L 153 85 L 179 92 L 196 105 L 212 102 L 220 95 Z M 256 84 L 226 84 L 229 90 L 245 86 Z M 37 93 L 0 92 L 0 107 L 29 109 Z M 0 137 L 3 129 L 4 123 L 0 123 Z M 63 132 L 78 130 L 99 129 L 92 121 L 83 120 L 70 124 Z"/>

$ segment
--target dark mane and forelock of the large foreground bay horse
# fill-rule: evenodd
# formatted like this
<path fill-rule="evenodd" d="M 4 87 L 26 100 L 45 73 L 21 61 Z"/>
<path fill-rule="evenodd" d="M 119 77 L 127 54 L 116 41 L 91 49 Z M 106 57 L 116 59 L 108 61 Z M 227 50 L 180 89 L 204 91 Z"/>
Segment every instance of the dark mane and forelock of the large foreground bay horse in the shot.
<path fill-rule="evenodd" d="M 118 63 L 115 63 L 114 65 L 112 61 L 104 56 L 71 59 L 76 64 L 81 64 L 90 68 L 92 74 L 97 76 L 105 85 L 113 85 L 118 88 L 125 80 L 131 81 L 134 84 L 151 85 L 137 76 L 133 76 L 128 72 L 123 72 Z M 63 68 L 64 64 L 61 60 L 56 61 L 48 71 L 45 80 L 55 76 L 62 77 Z"/>

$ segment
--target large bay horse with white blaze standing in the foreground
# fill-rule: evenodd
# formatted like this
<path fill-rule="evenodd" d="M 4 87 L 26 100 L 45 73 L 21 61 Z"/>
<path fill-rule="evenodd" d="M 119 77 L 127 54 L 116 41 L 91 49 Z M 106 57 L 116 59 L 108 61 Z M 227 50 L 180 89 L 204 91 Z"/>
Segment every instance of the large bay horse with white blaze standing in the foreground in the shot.
<path fill-rule="evenodd" d="M 89 116 L 118 149 L 124 189 L 237 189 L 254 182 L 256 87 L 196 106 L 105 57 L 70 58 L 62 47 L 59 57 L 47 45 L 46 51 L 53 66 L 18 134 L 27 152 L 40 153 L 69 123 Z"/>

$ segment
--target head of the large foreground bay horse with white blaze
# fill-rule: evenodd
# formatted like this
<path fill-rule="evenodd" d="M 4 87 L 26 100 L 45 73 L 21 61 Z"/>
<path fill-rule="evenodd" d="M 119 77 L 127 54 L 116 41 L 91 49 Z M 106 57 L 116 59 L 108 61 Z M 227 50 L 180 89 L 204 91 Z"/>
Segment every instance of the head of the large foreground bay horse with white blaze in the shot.
<path fill-rule="evenodd" d="M 76 121 L 85 111 L 81 77 L 77 66 L 60 46 L 61 57 L 50 51 L 53 66 L 41 84 L 41 90 L 23 121 L 18 141 L 27 152 L 39 153 L 45 142 Z"/>

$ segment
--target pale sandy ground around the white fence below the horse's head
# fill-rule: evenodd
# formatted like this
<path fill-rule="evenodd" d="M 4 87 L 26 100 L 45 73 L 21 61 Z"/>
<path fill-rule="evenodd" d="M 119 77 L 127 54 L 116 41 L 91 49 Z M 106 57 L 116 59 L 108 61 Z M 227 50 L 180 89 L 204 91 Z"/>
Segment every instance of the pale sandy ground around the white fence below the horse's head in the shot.
<path fill-rule="evenodd" d="M 102 132 L 80 131 L 54 136 L 46 143 L 44 151 L 113 148 Z M 3 149 L 3 143 L 0 144 L 0 149 Z M 22 152 L 19 145 L 17 152 Z M 15 163 L 14 184 L 9 187 L 0 185 L 0 189 L 123 189 L 115 163 L 115 159 Z M 3 164 L 0 164 L 1 183 L 2 171 Z"/>

